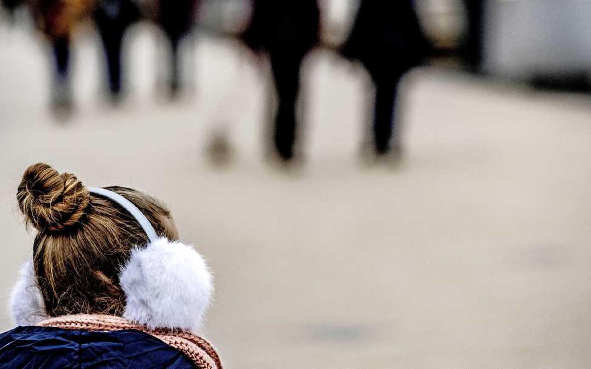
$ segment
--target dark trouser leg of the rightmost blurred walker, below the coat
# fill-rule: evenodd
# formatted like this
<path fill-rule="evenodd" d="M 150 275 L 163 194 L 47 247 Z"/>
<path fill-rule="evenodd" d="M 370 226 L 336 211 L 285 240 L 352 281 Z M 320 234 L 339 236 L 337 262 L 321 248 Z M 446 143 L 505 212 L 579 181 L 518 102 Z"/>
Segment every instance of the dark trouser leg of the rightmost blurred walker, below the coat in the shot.
<path fill-rule="evenodd" d="M 374 142 L 378 154 L 385 154 L 390 148 L 395 125 L 395 106 L 398 83 L 401 74 L 374 79 Z M 397 139 L 397 138 L 395 138 Z"/>

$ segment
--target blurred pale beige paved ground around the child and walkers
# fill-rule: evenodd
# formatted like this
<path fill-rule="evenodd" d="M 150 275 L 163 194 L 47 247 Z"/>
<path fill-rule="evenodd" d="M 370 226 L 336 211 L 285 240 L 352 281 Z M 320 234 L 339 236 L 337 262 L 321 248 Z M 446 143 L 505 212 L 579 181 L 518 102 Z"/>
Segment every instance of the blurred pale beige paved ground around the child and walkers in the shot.
<path fill-rule="evenodd" d="M 167 103 L 153 92 L 153 34 L 128 40 L 119 109 L 99 99 L 96 44 L 79 40 L 77 110 L 60 123 L 42 44 L 0 25 L 2 305 L 33 238 L 15 190 L 46 161 L 168 203 L 215 271 L 206 335 L 230 368 L 589 365 L 589 99 L 419 71 L 405 167 L 368 169 L 363 79 L 318 53 L 307 163 L 289 175 L 262 160 L 264 73 L 202 39 L 194 94 Z M 204 156 L 219 127 L 236 153 L 223 170 Z"/>

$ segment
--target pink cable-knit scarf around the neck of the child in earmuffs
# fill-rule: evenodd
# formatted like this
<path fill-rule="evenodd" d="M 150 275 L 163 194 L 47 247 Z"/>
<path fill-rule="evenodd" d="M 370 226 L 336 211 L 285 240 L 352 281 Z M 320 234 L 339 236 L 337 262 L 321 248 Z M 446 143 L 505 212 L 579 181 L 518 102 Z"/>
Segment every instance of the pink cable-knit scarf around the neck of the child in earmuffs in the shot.
<path fill-rule="evenodd" d="M 135 329 L 150 334 L 187 355 L 199 369 L 222 369 L 222 362 L 213 346 L 200 336 L 187 331 L 173 329 L 147 329 L 112 315 L 65 315 L 38 323 L 61 329 L 82 329 L 85 331 L 122 331 Z"/>

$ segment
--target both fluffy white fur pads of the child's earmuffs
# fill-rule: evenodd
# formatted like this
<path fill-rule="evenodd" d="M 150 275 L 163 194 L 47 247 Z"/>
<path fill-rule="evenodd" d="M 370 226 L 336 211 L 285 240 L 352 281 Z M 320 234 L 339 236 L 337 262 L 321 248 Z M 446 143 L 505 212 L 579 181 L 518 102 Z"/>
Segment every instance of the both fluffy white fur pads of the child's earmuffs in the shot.
<path fill-rule="evenodd" d="M 213 277 L 193 247 L 158 238 L 132 251 L 119 280 L 126 297 L 124 318 L 152 329 L 201 328 L 213 293 Z M 18 325 L 47 319 L 33 260 L 21 268 L 10 308 Z"/>

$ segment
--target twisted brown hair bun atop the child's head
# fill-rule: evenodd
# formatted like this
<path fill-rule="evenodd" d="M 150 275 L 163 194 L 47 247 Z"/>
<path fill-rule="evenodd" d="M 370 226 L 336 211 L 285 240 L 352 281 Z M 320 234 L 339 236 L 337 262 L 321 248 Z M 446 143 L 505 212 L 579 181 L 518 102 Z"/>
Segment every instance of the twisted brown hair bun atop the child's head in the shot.
<path fill-rule="evenodd" d="M 37 163 L 22 175 L 17 200 L 28 224 L 39 231 L 63 231 L 84 215 L 90 194 L 73 174 Z"/>

